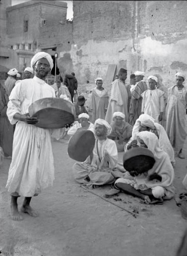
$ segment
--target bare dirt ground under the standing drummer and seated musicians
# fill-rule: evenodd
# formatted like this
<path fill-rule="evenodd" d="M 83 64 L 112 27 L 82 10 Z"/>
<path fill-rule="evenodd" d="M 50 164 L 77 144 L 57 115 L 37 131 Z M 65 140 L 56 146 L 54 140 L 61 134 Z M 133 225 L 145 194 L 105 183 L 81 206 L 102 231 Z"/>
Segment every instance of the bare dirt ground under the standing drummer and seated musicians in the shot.
<path fill-rule="evenodd" d="M 10 159 L 0 168 L 0 255 L 2 256 L 175 256 L 187 228 L 174 199 L 163 205 L 146 205 L 120 193 L 108 199 L 98 197 L 110 189 L 89 191 L 76 183 L 67 155 L 67 140 L 52 141 L 55 181 L 31 201 L 39 212 L 32 218 L 12 221 L 10 196 L 5 184 Z M 186 159 L 176 158 L 176 194 L 185 191 L 182 180 L 187 173 Z M 123 153 L 119 153 L 122 160 Z M 92 194 L 96 193 L 97 195 Z M 19 206 L 23 197 L 18 199 Z M 115 203 L 113 205 L 111 203 Z M 136 218 L 122 210 L 138 212 Z"/>

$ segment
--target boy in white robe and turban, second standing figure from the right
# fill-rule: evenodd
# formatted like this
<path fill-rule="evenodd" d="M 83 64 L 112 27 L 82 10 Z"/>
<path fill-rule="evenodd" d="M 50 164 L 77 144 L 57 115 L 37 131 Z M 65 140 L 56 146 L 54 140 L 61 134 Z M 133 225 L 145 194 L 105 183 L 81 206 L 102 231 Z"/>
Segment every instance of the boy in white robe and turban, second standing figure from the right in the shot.
<path fill-rule="evenodd" d="M 148 77 L 149 89 L 141 94 L 143 98 L 141 114 L 147 114 L 154 118 L 156 123 L 159 123 L 163 119 L 164 92 L 156 89 L 157 82 L 157 77 Z"/>

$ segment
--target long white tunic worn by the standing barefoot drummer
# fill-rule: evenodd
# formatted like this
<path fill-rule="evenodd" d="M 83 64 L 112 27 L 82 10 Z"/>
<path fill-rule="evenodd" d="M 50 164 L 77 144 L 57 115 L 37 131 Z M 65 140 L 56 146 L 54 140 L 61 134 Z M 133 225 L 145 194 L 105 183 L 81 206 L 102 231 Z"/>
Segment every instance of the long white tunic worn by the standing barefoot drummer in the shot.
<path fill-rule="evenodd" d="M 8 102 L 7 116 L 13 125 L 16 113 L 28 113 L 31 103 L 55 97 L 55 90 L 43 80 L 34 77 L 20 81 L 13 88 Z M 12 195 L 32 197 L 52 186 L 54 159 L 50 131 L 18 121 L 13 138 L 12 161 L 6 188 Z"/>

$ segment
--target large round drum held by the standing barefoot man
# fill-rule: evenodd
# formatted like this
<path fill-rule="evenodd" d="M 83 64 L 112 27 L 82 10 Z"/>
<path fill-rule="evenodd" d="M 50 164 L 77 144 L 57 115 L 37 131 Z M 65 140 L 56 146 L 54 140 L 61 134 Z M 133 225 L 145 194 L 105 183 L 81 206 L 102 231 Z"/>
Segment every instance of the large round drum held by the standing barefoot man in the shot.
<path fill-rule="evenodd" d="M 75 120 L 75 107 L 71 102 L 57 98 L 43 98 L 29 106 L 29 116 L 37 117 L 36 127 L 46 129 L 63 128 Z"/>

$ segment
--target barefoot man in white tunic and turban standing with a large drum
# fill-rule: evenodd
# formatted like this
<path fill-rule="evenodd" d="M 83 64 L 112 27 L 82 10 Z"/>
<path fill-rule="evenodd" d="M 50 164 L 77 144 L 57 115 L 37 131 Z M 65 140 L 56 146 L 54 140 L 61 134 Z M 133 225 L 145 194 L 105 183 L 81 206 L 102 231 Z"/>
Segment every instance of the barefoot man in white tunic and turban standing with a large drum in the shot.
<path fill-rule="evenodd" d="M 37 118 L 29 117 L 29 106 L 42 98 L 54 97 L 55 90 L 45 83 L 53 68 L 53 59 L 46 52 L 38 52 L 31 60 L 35 72 L 32 79 L 21 80 L 13 88 L 8 102 L 7 116 L 12 125 L 16 122 L 13 138 L 12 161 L 6 188 L 11 195 L 11 217 L 22 220 L 18 212 L 17 198 L 24 196 L 21 212 L 36 217 L 30 207 L 32 196 L 53 185 L 54 160 L 50 131 L 34 126 Z"/>

